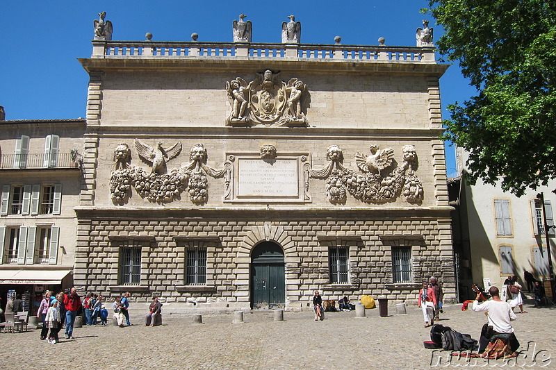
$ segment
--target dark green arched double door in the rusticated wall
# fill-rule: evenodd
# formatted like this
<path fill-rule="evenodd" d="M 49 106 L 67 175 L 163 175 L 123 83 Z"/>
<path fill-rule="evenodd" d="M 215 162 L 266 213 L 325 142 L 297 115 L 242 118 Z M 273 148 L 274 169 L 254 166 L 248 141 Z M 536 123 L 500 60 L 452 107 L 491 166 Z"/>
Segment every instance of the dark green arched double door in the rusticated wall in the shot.
<path fill-rule="evenodd" d="M 284 251 L 274 242 L 257 244 L 251 253 L 251 307 L 284 308 L 286 305 Z"/>

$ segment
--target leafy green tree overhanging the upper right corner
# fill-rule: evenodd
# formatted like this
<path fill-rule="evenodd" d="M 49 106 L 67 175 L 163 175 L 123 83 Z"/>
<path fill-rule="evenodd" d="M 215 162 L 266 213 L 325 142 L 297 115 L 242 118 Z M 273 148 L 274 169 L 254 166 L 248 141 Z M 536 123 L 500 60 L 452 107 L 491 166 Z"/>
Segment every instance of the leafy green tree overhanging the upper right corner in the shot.
<path fill-rule="evenodd" d="M 517 196 L 556 177 L 556 1 L 430 0 L 439 52 L 477 95 L 448 106 L 445 140 L 469 152 L 467 180 Z"/>

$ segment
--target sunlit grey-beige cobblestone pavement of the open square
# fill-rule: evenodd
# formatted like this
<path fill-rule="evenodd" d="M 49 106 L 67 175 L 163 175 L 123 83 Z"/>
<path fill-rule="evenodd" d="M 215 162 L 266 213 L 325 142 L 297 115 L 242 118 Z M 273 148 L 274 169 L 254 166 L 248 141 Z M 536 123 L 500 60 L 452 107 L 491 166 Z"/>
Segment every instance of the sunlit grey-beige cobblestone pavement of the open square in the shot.
<path fill-rule="evenodd" d="M 525 307 L 529 307 L 526 305 Z M 445 326 L 479 339 L 484 314 L 453 305 L 441 315 Z M 556 369 L 556 308 L 526 308 L 514 321 L 523 353 L 516 360 L 471 365 Z M 389 308 L 393 313 L 393 308 Z M 143 326 L 136 315 L 126 328 L 76 328 L 75 339 L 59 344 L 40 341 L 39 330 L 1 334 L 1 369 L 426 369 L 468 366 L 463 359 L 446 362 L 448 351 L 427 350 L 430 329 L 423 328 L 416 306 L 407 315 L 379 317 L 366 310 L 327 312 L 314 321 L 313 312 L 284 312 L 285 321 L 273 321 L 272 312 L 244 314 L 244 323 L 232 323 L 233 314 L 204 315 L 203 324 L 191 317 L 164 316 L 163 326 Z M 60 332 L 63 334 L 63 332 Z M 63 337 L 63 335 L 61 336 Z M 528 348 L 528 343 L 530 348 Z M 533 348 L 533 346 L 536 346 Z M 536 358 L 535 358 L 536 356 Z M 535 362 L 534 362 L 535 361 Z M 544 362 L 543 362 L 544 361 Z"/>

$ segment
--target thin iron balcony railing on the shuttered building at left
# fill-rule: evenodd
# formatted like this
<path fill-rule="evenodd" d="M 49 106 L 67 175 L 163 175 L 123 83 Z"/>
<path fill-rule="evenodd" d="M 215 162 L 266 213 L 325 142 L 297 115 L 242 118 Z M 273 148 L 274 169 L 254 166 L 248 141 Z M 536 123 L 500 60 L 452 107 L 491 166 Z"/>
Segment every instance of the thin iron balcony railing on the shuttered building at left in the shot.
<path fill-rule="evenodd" d="M 81 155 L 72 159 L 70 153 L 2 154 L 0 169 L 38 169 L 80 167 Z"/>

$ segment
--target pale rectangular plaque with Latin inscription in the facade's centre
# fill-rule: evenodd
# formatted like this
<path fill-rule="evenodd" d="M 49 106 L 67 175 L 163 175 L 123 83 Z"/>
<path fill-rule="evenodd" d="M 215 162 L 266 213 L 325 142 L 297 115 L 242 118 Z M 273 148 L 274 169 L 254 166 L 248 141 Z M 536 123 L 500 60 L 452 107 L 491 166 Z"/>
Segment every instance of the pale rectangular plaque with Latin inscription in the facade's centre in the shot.
<path fill-rule="evenodd" d="M 297 159 L 238 158 L 238 197 L 297 198 L 300 195 Z"/>

